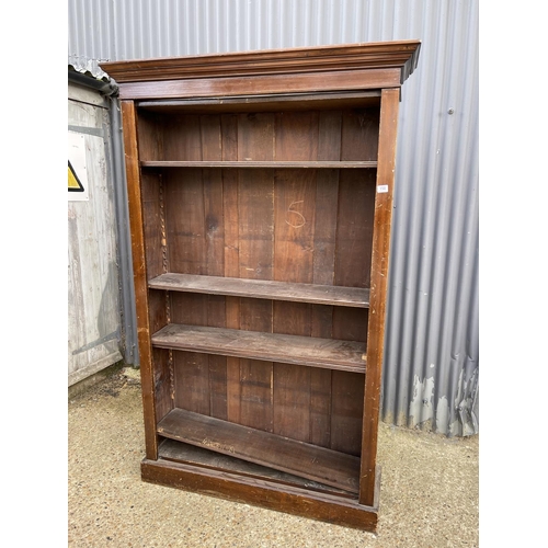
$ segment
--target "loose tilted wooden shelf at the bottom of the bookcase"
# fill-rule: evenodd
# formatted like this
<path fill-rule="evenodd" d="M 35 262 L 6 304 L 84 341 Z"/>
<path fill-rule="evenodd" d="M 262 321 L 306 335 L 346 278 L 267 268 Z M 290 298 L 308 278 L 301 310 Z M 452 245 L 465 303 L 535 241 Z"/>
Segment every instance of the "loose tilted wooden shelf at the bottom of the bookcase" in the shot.
<path fill-rule="evenodd" d="M 157 431 L 171 439 L 358 492 L 359 458 L 345 453 L 178 408 L 158 423 Z"/>

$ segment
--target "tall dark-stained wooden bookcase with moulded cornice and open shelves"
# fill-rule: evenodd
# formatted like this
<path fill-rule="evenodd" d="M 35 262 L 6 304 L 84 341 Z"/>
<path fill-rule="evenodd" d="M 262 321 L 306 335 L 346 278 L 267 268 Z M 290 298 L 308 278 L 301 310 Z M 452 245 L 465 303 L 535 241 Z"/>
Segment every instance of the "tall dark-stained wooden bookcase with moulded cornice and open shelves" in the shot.
<path fill-rule="evenodd" d="M 102 64 L 119 85 L 142 479 L 375 530 L 416 41 Z"/>

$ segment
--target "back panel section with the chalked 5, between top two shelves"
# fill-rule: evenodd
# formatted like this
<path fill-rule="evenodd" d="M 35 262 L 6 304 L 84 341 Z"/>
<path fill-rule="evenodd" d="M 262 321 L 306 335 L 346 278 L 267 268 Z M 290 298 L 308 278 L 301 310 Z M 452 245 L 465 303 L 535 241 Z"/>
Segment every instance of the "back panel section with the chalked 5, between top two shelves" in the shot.
<path fill-rule="evenodd" d="M 369 286 L 375 170 L 189 168 L 162 181 L 171 272 Z"/>

